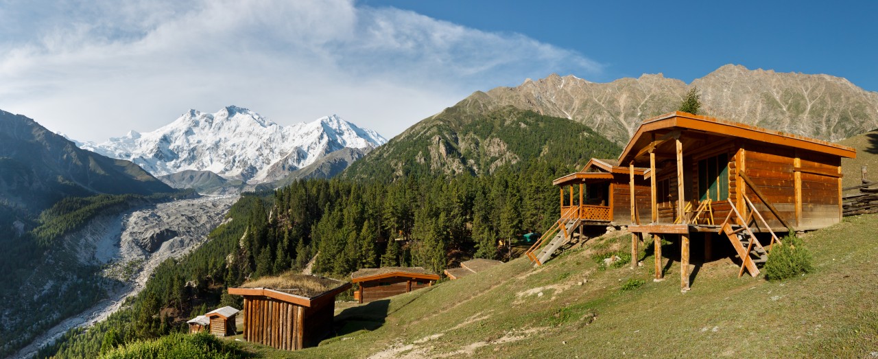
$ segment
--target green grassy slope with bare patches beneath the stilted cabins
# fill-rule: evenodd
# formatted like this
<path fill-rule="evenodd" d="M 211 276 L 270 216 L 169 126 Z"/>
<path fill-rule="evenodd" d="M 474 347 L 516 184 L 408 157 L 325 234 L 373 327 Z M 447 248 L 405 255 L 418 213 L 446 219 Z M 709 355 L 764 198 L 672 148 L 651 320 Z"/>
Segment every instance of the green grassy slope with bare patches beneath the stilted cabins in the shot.
<path fill-rule="evenodd" d="M 679 262 L 659 283 L 651 256 L 638 269 L 601 271 L 590 248 L 627 240 L 594 240 L 540 269 L 518 259 L 345 309 L 337 336 L 317 348 L 245 348 L 262 357 L 864 357 L 878 351 L 876 226 L 878 215 L 864 215 L 807 234 L 810 275 L 738 278 L 723 259 L 698 269 L 686 294 Z M 621 290 L 630 278 L 646 283 Z"/>

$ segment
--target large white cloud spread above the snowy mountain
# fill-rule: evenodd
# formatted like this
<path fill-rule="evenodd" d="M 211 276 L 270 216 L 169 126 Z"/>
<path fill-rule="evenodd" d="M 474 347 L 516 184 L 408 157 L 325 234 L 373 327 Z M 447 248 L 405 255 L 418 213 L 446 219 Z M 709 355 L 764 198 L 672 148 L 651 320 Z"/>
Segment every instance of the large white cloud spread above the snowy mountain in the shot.
<path fill-rule="evenodd" d="M 0 109 L 79 140 L 227 104 L 282 125 L 337 113 L 390 137 L 473 90 L 601 70 L 520 34 L 343 0 L 3 1 Z"/>

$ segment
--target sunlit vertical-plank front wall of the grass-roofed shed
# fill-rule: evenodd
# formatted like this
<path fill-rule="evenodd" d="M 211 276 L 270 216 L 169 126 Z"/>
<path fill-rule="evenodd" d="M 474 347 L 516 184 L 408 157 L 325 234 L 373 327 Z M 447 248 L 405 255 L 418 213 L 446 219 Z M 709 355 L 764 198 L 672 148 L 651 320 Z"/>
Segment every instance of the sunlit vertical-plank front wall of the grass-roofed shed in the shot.
<path fill-rule="evenodd" d="M 305 307 L 267 297 L 244 300 L 244 340 L 272 348 L 303 347 L 302 317 Z"/>

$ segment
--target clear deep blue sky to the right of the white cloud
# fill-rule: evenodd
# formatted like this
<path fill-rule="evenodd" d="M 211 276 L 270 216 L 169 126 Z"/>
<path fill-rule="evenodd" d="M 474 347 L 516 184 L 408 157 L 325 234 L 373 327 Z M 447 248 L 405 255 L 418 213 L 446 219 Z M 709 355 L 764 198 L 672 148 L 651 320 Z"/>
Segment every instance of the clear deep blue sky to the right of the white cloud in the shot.
<path fill-rule="evenodd" d="M 595 82 L 663 73 L 687 83 L 734 63 L 846 77 L 878 91 L 878 2 L 366 0 L 488 32 L 517 32 L 600 63 Z M 576 74 L 574 74 L 576 75 Z"/>

